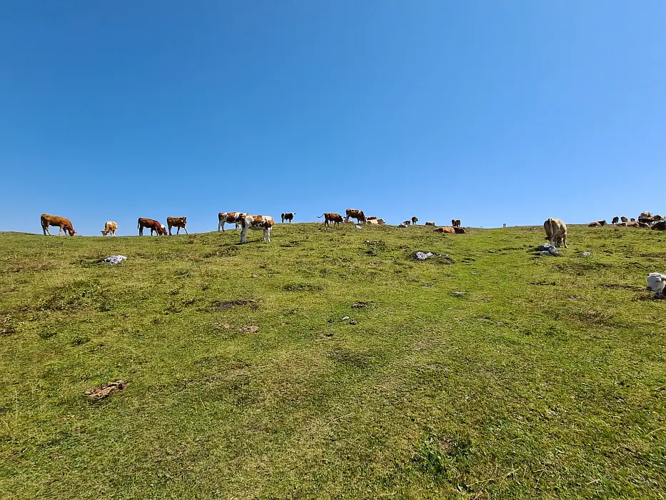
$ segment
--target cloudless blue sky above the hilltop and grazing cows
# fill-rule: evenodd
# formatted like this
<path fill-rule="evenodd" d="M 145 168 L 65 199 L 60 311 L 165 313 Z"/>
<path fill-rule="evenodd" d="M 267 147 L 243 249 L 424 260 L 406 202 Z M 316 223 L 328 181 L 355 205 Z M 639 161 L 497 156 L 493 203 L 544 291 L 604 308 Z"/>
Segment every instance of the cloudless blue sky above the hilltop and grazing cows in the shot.
<path fill-rule="evenodd" d="M 0 230 L 664 213 L 665 22 L 663 0 L 2 1 Z"/>

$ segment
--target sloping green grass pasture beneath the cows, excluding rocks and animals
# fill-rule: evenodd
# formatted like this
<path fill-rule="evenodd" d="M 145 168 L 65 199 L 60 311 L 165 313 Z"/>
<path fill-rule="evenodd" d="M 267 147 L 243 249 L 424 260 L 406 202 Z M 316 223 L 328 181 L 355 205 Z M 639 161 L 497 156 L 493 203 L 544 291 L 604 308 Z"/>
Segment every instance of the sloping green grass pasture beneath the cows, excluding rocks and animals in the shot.
<path fill-rule="evenodd" d="M 666 234 L 569 230 L 0 234 L 0 497 L 664 499 Z"/>

